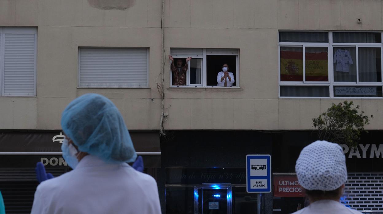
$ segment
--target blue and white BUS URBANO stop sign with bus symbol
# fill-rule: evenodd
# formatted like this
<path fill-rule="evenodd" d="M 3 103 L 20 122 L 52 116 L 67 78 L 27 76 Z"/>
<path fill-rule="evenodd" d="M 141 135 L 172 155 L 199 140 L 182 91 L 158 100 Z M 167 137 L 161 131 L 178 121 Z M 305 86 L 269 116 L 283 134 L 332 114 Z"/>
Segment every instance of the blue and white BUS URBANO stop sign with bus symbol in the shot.
<path fill-rule="evenodd" d="M 246 191 L 270 193 L 271 187 L 271 156 L 246 155 Z"/>

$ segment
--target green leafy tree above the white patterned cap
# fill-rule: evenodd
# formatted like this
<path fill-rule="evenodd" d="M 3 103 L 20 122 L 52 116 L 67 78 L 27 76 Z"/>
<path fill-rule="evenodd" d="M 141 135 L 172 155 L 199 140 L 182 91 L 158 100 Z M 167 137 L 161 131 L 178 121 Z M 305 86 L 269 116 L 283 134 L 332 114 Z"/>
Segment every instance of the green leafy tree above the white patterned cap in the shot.
<path fill-rule="evenodd" d="M 353 106 L 354 102 L 347 100 L 337 105 L 332 103 L 325 113 L 313 118 L 314 130 L 318 131 L 319 139 L 355 148 L 364 125 L 370 124 L 370 120 L 363 111 L 358 113 L 359 106 Z"/>

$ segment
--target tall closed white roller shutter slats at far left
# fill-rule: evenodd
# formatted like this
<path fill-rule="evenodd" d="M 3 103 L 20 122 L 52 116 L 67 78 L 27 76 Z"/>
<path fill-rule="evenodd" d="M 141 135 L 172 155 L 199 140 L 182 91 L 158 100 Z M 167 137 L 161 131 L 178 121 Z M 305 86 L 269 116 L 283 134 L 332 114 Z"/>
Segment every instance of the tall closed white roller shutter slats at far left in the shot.
<path fill-rule="evenodd" d="M 36 34 L 4 33 L 4 96 L 34 96 Z"/>

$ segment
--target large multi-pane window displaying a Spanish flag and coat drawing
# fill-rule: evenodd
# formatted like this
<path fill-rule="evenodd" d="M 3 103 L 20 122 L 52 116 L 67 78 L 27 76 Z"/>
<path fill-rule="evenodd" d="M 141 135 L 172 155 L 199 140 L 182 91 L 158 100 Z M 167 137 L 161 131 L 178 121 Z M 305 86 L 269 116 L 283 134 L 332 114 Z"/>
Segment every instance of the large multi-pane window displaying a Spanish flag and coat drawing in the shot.
<path fill-rule="evenodd" d="M 381 32 L 279 32 L 279 96 L 382 98 Z"/>

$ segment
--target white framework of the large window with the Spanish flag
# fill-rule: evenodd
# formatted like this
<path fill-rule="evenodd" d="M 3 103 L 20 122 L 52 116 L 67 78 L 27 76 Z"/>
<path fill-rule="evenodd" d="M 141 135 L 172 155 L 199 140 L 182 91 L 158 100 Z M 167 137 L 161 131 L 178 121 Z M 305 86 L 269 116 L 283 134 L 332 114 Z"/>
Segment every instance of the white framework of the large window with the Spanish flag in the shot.
<path fill-rule="evenodd" d="M 383 87 L 383 33 L 381 31 L 311 31 L 311 32 L 328 32 L 329 33 L 329 42 L 279 42 L 280 41 L 280 32 L 288 31 L 294 32 L 291 30 L 280 30 L 278 31 L 278 98 L 309 98 L 309 99 L 383 99 L 382 97 L 363 97 L 363 96 L 334 96 L 334 86 L 350 86 L 350 87 Z M 299 31 L 295 31 L 299 32 Z M 303 31 L 310 32 L 310 31 Z M 382 38 L 382 43 L 335 43 L 332 42 L 332 33 L 338 32 L 357 32 L 357 33 L 380 33 Z M 280 57 L 280 47 L 303 47 L 303 82 L 288 82 L 281 81 L 281 57 Z M 305 81 L 305 47 L 328 47 L 328 82 L 311 82 Z M 334 82 L 334 47 L 355 47 L 356 48 L 356 62 L 355 66 L 357 68 L 357 82 Z M 359 66 L 358 66 L 358 48 L 359 47 L 379 47 L 381 51 L 381 70 L 382 70 L 382 79 L 380 82 L 359 82 Z M 281 96 L 280 86 L 327 86 L 329 87 L 329 96 Z"/>

